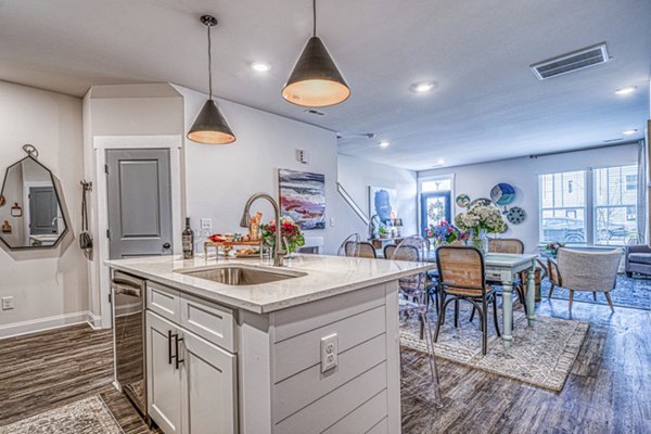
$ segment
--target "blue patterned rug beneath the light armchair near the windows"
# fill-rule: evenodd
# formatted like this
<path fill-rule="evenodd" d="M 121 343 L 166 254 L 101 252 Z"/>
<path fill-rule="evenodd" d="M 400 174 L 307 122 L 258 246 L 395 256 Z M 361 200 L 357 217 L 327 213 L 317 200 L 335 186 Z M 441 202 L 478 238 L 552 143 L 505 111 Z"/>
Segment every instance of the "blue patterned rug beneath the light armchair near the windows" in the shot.
<path fill-rule="evenodd" d="M 540 294 L 542 298 L 547 298 L 549 295 L 549 280 L 545 279 L 540 283 Z M 651 278 L 649 277 L 634 275 L 634 278 L 629 279 L 626 275 L 618 275 L 617 285 L 610 294 L 615 306 L 651 310 Z M 570 291 L 554 288 L 551 297 L 570 299 Z M 608 305 L 605 296 L 600 293 L 597 293 L 597 302 L 595 302 L 591 292 L 575 291 L 574 301 Z"/>

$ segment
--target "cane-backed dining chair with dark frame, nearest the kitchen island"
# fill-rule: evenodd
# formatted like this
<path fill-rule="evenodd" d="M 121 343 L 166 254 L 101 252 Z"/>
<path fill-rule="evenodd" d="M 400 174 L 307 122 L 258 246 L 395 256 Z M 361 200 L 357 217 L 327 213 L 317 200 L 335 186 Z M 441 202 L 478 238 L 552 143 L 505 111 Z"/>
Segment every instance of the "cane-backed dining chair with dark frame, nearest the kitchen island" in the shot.
<path fill-rule="evenodd" d="M 497 321 L 496 289 L 486 284 L 484 257 L 475 247 L 444 245 L 436 250 L 438 288 L 441 291 L 441 315 L 436 323 L 434 342 L 438 340 L 445 322 L 445 311 L 455 302 L 455 327 L 458 327 L 458 302 L 469 302 L 478 312 L 482 323 L 482 354 L 486 355 L 488 342 L 488 304 L 493 304 L 493 321 L 499 336 Z M 449 298 L 448 298 L 449 296 Z M 481 304 L 480 304 L 481 303 Z"/>

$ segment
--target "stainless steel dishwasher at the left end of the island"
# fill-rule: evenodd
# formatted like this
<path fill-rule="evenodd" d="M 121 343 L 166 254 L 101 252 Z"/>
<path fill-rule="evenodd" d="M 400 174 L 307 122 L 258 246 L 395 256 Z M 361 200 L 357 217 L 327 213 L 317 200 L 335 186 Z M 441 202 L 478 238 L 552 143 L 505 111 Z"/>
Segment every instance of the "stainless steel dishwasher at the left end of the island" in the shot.
<path fill-rule="evenodd" d="M 115 381 L 150 423 L 144 346 L 145 281 L 114 271 L 111 281 Z"/>

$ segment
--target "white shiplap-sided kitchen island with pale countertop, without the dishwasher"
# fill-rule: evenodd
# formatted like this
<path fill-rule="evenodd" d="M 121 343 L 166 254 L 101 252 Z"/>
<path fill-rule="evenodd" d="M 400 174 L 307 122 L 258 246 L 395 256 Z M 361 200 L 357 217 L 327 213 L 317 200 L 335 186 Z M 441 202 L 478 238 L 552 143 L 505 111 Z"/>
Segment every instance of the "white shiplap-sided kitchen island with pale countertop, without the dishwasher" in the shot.
<path fill-rule="evenodd" d="M 111 260 L 146 281 L 150 417 L 173 433 L 399 433 L 398 284 L 432 264 Z"/>

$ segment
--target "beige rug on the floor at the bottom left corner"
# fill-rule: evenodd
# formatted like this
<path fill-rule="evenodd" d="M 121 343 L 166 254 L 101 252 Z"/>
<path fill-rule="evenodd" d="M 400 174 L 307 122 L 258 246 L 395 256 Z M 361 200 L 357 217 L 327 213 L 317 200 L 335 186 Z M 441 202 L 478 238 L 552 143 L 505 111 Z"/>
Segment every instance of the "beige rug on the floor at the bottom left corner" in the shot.
<path fill-rule="evenodd" d="M 124 431 L 97 395 L 0 426 L 0 434 L 53 433 L 124 434 Z"/>

